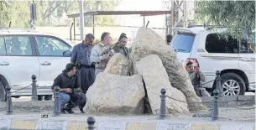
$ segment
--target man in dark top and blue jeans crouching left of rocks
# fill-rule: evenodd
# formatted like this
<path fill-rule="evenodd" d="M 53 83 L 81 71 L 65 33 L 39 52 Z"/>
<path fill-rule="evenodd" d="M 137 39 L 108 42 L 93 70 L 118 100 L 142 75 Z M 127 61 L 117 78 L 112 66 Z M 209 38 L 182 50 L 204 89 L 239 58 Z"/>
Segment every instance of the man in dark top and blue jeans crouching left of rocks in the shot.
<path fill-rule="evenodd" d="M 78 88 L 76 67 L 69 63 L 65 66 L 65 70 L 55 78 L 51 91 L 54 91 L 55 86 L 60 86 L 60 112 L 65 114 L 74 113 L 72 108 L 78 105 L 81 113 L 86 105 L 86 94 L 81 91 L 76 91 Z"/>

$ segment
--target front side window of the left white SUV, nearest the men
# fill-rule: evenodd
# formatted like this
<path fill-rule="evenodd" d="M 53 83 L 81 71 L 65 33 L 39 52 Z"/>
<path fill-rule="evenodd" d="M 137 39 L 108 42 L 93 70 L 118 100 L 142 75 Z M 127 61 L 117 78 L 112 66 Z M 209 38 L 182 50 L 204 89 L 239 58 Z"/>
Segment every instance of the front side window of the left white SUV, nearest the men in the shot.
<path fill-rule="evenodd" d="M 63 56 L 67 50 L 71 50 L 68 44 L 65 44 L 60 39 L 48 36 L 35 36 L 39 55 L 42 56 Z"/>

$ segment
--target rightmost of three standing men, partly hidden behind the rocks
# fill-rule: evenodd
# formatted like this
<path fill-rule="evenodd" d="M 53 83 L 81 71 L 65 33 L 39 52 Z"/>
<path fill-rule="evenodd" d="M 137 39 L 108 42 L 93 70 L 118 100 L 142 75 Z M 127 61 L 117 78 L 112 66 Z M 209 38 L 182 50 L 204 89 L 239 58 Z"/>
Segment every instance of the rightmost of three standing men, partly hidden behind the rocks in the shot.
<path fill-rule="evenodd" d="M 118 43 L 113 47 L 115 53 L 120 53 L 129 59 L 129 49 L 126 47 L 128 42 L 126 34 L 122 33 L 118 39 Z"/>

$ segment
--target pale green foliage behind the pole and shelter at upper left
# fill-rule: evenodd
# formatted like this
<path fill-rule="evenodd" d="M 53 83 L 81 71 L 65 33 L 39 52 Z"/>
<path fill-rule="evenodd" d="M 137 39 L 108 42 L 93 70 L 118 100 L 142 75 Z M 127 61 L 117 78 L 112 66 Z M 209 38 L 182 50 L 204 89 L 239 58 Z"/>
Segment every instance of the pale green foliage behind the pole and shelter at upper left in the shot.
<path fill-rule="evenodd" d="M 118 4 L 117 1 L 84 1 L 84 9 L 88 11 L 113 10 Z M 12 22 L 12 27 L 29 28 L 29 4 L 32 1 L 0 1 L 0 26 L 8 27 Z M 67 14 L 79 13 L 78 1 L 34 1 L 37 8 L 36 26 L 71 26 L 73 19 L 67 18 Z M 112 24 L 111 16 L 97 16 L 95 23 Z M 79 18 L 76 18 L 76 25 Z M 92 17 L 85 17 L 85 26 L 92 25 Z"/>

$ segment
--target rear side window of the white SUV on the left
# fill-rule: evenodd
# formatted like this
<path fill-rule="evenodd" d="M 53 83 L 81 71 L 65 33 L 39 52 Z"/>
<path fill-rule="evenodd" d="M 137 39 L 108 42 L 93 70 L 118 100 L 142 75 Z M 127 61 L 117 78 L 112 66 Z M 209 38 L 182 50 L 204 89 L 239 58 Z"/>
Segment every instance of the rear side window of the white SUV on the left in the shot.
<path fill-rule="evenodd" d="M 4 43 L 4 45 L 0 46 L 5 48 L 4 52 L 6 52 L 7 55 L 33 55 L 29 36 L 5 36 L 4 39 L 0 39 L 1 44 Z"/>

